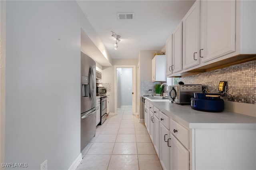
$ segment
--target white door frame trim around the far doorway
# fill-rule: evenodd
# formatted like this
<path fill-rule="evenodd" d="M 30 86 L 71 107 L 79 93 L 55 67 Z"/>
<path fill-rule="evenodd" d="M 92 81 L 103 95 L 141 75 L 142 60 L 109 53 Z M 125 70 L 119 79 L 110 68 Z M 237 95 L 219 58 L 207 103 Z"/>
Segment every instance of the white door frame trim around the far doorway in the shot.
<path fill-rule="evenodd" d="M 117 114 L 117 87 L 116 87 L 116 69 L 132 68 L 132 115 L 136 115 L 136 65 L 114 65 L 114 106 L 115 114 Z"/>

